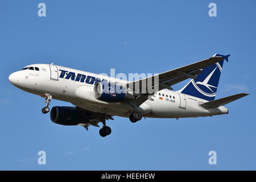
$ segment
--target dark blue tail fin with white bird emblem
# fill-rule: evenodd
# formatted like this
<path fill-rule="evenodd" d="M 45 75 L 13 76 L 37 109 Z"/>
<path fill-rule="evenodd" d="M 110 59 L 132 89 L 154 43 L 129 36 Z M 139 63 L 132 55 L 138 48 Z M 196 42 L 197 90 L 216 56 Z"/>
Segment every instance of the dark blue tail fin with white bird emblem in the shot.
<path fill-rule="evenodd" d="M 224 60 L 228 61 L 230 55 L 223 56 L 216 54 L 213 57 L 217 56 L 223 57 Z M 207 101 L 213 101 L 217 93 L 218 81 L 220 80 L 224 60 L 202 69 L 203 73 L 197 75 L 196 79 L 191 79 L 188 84 L 180 90 L 180 93 L 203 98 Z"/>

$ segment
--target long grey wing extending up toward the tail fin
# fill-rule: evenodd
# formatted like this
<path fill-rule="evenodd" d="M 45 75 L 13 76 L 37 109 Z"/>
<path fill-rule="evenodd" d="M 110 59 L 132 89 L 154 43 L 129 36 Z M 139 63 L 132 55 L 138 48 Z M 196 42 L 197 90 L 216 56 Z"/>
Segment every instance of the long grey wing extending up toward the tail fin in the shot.
<path fill-rule="evenodd" d="M 215 64 L 224 59 L 225 57 L 221 56 L 210 57 L 209 59 L 201 60 L 196 63 L 186 65 L 184 67 L 160 73 L 159 75 L 154 75 L 151 77 L 143 78 L 141 80 L 129 82 L 126 86 L 130 90 L 133 90 L 135 94 L 137 94 L 137 106 L 139 106 L 147 100 L 147 97 L 140 96 L 154 94 L 154 92 L 157 92 L 164 88 L 172 89 L 172 85 L 184 81 L 187 78 L 196 78 L 196 75 L 202 72 L 201 69 L 209 67 L 209 65 Z"/>

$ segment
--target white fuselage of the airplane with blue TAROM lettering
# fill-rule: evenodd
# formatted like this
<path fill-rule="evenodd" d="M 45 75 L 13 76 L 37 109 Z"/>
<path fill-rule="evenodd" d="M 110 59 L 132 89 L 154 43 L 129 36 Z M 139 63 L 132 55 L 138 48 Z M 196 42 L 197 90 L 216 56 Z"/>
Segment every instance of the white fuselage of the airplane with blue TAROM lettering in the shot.
<path fill-rule="evenodd" d="M 48 64 L 33 64 L 27 67 L 38 67 L 39 71 L 26 69 L 12 73 L 9 80 L 16 87 L 39 96 L 49 94 L 56 100 L 71 102 L 77 107 L 97 113 L 129 117 L 133 107 L 127 101 L 104 102 L 97 100 L 93 95 L 94 78 L 100 78 L 125 83 L 126 80 L 97 75 L 77 69 L 65 68 Z M 66 71 L 66 72 L 64 72 Z M 69 73 L 75 73 L 65 78 Z M 62 76 L 61 76 L 62 74 Z M 77 77 L 80 75 L 80 77 Z M 81 75 L 86 76 L 81 78 Z M 89 77 L 88 77 L 89 76 Z M 170 97 L 171 96 L 171 97 Z M 144 117 L 151 118 L 186 118 L 205 117 L 228 113 L 224 106 L 205 109 L 199 104 L 207 102 L 201 98 L 188 96 L 169 89 L 160 90 L 137 108 Z"/>

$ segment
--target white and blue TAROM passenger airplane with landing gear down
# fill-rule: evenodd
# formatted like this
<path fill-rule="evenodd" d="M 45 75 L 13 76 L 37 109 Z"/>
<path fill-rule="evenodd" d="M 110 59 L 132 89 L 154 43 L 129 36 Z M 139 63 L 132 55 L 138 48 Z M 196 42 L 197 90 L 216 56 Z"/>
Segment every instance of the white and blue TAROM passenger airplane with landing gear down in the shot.
<path fill-rule="evenodd" d="M 53 64 L 27 65 L 11 73 L 11 84 L 45 99 L 44 114 L 50 111 L 52 99 L 71 102 L 74 107 L 53 106 L 50 119 L 59 125 L 100 127 L 101 137 L 112 133 L 106 120 L 114 116 L 129 118 L 135 123 L 142 118 L 189 118 L 228 114 L 224 105 L 248 93 L 215 100 L 224 60 L 230 55 L 215 54 L 158 75 L 135 81 L 120 80 Z M 176 92 L 181 81 L 188 84 Z M 146 88 L 146 90 L 143 88 Z M 143 90 L 143 92 L 142 92 Z M 153 91 L 152 91 L 153 90 Z"/>

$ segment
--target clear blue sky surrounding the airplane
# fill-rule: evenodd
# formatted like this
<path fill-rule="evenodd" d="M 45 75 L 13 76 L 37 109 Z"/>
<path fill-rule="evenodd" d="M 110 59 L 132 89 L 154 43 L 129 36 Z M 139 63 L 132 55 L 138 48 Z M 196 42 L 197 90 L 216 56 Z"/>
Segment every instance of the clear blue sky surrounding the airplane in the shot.
<path fill-rule="evenodd" d="M 47 16 L 38 16 L 38 3 Z M 208 16 L 210 2 L 217 17 Z M 0 2 L 0 169 L 172 170 L 256 169 L 256 1 Z M 126 42 L 126 43 L 125 43 Z M 247 92 L 208 118 L 115 117 L 113 133 L 52 123 L 43 98 L 10 84 L 25 65 L 52 63 L 94 73 L 160 73 L 231 54 L 216 98 Z M 187 81 L 174 85 L 180 89 Z M 71 106 L 52 100 L 51 106 Z M 38 151 L 47 164 L 37 164 Z M 208 152 L 217 152 L 217 165 Z"/>

